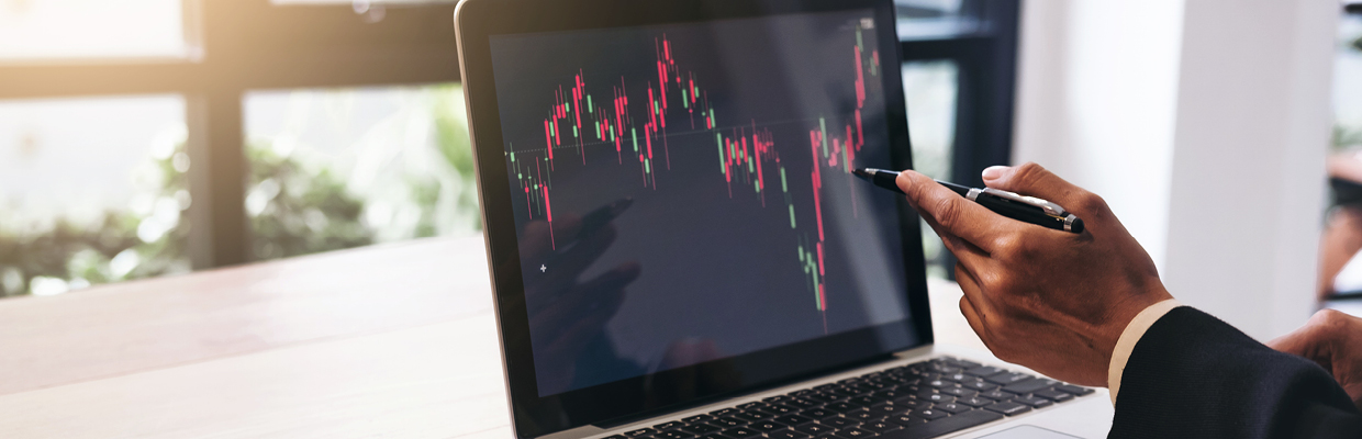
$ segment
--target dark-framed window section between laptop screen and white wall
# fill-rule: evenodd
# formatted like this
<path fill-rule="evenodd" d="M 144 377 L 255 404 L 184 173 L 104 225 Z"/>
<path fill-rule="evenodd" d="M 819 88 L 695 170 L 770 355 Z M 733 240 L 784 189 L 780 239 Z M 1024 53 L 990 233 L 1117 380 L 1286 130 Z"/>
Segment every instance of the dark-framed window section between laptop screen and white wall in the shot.
<path fill-rule="evenodd" d="M 1012 158 L 1016 0 L 896 0 L 913 162 L 923 174 L 975 188 Z M 922 226 L 928 275 L 955 260 Z"/>

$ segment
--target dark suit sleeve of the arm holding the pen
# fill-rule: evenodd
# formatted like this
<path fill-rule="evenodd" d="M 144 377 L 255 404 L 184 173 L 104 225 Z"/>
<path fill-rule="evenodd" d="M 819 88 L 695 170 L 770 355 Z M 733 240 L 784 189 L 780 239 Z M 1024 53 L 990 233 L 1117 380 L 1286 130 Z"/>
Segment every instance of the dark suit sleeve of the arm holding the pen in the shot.
<path fill-rule="evenodd" d="M 1110 438 L 1362 438 L 1362 415 L 1318 364 L 1178 307 L 1135 345 Z"/>

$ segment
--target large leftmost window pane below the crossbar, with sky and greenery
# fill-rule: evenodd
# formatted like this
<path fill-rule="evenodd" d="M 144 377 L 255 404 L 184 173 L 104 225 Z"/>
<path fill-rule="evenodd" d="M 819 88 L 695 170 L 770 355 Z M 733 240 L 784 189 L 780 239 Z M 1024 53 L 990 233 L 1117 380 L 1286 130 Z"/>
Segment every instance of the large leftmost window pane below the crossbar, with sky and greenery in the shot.
<path fill-rule="evenodd" d="M 189 270 L 184 99 L 0 101 L 0 296 Z"/>

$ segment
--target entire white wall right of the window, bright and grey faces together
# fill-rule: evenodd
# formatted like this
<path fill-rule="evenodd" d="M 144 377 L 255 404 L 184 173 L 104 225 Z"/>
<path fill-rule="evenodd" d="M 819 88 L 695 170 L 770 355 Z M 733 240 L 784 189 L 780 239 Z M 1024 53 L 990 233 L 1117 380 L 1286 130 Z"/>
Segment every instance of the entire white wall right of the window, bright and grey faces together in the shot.
<path fill-rule="evenodd" d="M 1260 340 L 1312 311 L 1333 0 L 1032 0 L 1013 160 L 1092 189 L 1178 299 Z"/>

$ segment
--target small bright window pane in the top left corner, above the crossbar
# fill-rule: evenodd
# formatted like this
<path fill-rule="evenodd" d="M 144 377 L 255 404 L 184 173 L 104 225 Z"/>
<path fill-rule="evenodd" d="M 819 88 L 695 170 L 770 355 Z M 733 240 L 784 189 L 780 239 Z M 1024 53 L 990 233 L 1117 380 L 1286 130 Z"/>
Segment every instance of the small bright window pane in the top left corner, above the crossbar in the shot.
<path fill-rule="evenodd" d="M 184 57 L 181 0 L 0 1 L 0 61 Z"/>

